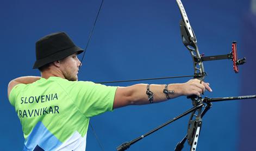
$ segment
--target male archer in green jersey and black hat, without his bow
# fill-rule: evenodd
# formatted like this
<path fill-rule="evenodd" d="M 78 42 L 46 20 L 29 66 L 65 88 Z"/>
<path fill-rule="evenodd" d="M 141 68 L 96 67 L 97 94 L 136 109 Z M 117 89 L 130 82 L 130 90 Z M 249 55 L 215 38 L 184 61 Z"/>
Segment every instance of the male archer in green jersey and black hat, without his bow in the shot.
<path fill-rule="evenodd" d="M 127 87 L 78 81 L 82 63 L 77 55 L 82 52 L 64 32 L 46 35 L 36 42 L 33 67 L 40 70 L 41 77 L 10 81 L 8 98 L 22 124 L 24 150 L 85 150 L 90 117 L 127 105 L 159 103 L 212 91 L 209 83 L 198 79 Z M 42 102 L 49 94 L 55 94 L 55 98 Z M 34 100 L 39 96 L 40 101 Z M 24 98 L 30 103 L 23 103 Z"/>

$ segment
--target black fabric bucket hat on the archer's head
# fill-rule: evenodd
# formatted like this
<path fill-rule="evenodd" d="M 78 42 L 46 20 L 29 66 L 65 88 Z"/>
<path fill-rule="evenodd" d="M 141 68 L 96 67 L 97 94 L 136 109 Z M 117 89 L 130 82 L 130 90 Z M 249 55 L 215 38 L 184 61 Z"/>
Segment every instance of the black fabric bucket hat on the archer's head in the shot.
<path fill-rule="evenodd" d="M 36 61 L 33 68 L 40 68 L 51 62 L 64 59 L 73 53 L 80 54 L 83 51 L 74 45 L 65 32 L 46 35 L 36 41 Z"/>

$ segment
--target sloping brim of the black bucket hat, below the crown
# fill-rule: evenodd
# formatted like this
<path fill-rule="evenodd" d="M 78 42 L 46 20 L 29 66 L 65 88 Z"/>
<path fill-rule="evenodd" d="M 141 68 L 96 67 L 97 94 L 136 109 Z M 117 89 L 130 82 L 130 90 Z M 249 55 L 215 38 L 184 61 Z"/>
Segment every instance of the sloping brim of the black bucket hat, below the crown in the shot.
<path fill-rule="evenodd" d="M 51 62 L 64 59 L 64 58 L 66 58 L 67 56 L 69 56 L 71 54 L 74 54 L 74 53 L 80 54 L 83 51 L 84 51 L 83 49 L 81 49 L 77 46 L 65 49 L 63 51 L 60 51 L 60 52 L 54 53 L 52 55 L 49 55 L 46 58 L 36 60 L 33 68 L 40 68 L 40 67 L 42 67 L 46 64 L 49 64 Z"/>

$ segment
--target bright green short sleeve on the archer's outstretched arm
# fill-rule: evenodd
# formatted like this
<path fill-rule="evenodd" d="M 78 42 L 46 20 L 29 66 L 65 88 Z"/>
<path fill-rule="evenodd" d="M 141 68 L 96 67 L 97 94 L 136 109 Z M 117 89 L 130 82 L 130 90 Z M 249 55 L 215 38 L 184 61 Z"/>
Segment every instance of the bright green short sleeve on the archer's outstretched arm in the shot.
<path fill-rule="evenodd" d="M 74 104 L 86 117 L 113 110 L 116 86 L 105 86 L 89 81 L 75 81 L 69 87 Z"/>

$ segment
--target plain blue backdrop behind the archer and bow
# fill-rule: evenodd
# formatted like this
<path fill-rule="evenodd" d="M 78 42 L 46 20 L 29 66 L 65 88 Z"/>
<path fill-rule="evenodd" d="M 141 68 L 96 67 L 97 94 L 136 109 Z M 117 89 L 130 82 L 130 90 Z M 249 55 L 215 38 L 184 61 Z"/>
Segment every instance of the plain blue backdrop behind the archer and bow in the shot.
<path fill-rule="evenodd" d="M 100 3 L 100 0 L 1 3 L 0 150 L 23 148 L 21 124 L 8 101 L 7 86 L 16 77 L 40 75 L 38 70 L 32 70 L 35 41 L 49 33 L 65 31 L 78 46 L 85 48 Z M 250 1 L 184 0 L 183 4 L 197 36 L 199 52 L 206 56 L 227 54 L 232 41 L 236 40 L 239 55 L 248 59 L 247 64 L 240 67 L 242 74 L 234 73 L 229 60 L 205 62 L 205 71 L 209 74 L 205 81 L 213 89 L 205 96 L 255 93 L 256 17 L 250 12 Z M 79 71 L 79 80 L 98 82 L 193 74 L 191 56 L 180 38 L 180 19 L 176 1 L 105 1 Z M 189 78 L 141 83 L 187 80 Z M 112 85 L 132 84 L 136 83 Z M 214 103 L 203 118 L 198 150 L 255 150 L 253 105 L 256 104 L 250 104 L 253 100 Z M 179 97 L 154 105 L 117 109 L 91 118 L 91 123 L 104 150 L 115 150 L 122 142 L 145 134 L 191 107 L 189 99 Z M 188 119 L 189 116 L 179 119 L 134 144 L 130 150 L 173 150 L 186 134 Z M 91 128 L 86 150 L 100 150 Z M 187 143 L 184 150 L 189 150 Z"/>

